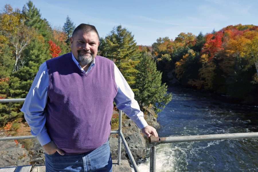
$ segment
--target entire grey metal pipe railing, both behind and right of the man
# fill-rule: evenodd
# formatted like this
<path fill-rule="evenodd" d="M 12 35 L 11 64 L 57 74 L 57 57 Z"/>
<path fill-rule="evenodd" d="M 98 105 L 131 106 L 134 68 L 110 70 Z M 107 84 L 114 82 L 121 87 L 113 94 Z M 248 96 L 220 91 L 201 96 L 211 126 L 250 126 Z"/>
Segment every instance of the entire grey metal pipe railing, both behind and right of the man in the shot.
<path fill-rule="evenodd" d="M 23 102 L 25 99 L 0 99 L 0 103 L 6 102 Z M 128 144 L 122 133 L 122 111 L 119 110 L 119 126 L 117 131 L 111 131 L 110 134 L 118 134 L 118 165 L 121 165 L 121 144 L 123 142 L 126 149 L 126 153 L 131 161 L 134 171 L 139 172 L 138 166 L 132 156 L 132 153 L 128 147 Z M 18 139 L 30 139 L 34 136 L 15 136 L 15 137 L 1 137 L 1 140 L 18 140 Z M 149 137 L 150 147 L 150 172 L 156 171 L 156 143 L 175 143 L 175 142 L 196 142 L 196 141 L 211 141 L 211 140 L 228 140 L 228 139 L 243 139 L 243 138 L 258 138 L 258 132 L 249 133 L 232 133 L 232 134 L 208 134 L 208 135 L 196 135 L 196 136 L 174 136 L 174 137 Z"/>

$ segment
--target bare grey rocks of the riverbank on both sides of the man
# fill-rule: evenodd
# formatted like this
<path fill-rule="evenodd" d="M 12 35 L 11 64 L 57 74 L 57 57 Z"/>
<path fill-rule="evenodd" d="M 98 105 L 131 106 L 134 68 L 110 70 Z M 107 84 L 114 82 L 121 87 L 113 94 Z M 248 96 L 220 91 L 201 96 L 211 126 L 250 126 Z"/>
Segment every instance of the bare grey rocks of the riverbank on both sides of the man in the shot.
<path fill-rule="evenodd" d="M 145 110 L 146 108 L 144 108 Z M 159 128 L 156 114 L 153 110 L 146 109 L 144 118 L 150 126 Z M 129 118 L 123 119 L 122 132 L 126 139 L 126 142 L 132 152 L 132 155 L 136 163 L 141 163 L 146 160 L 146 148 L 148 146 L 148 140 L 146 136 L 143 136 L 141 130 L 136 124 Z M 4 137 L 5 132 L 0 131 L 0 137 Z M 110 149 L 112 153 L 112 159 L 117 159 L 118 152 L 118 138 L 117 134 L 110 136 Z M 19 142 L 18 142 L 19 141 Z M 44 164 L 45 156 L 42 146 L 40 146 L 38 140 L 26 139 L 18 141 L 0 141 L 0 167 L 17 166 L 17 165 L 35 165 Z M 128 159 L 128 155 L 122 144 L 121 158 Z"/>

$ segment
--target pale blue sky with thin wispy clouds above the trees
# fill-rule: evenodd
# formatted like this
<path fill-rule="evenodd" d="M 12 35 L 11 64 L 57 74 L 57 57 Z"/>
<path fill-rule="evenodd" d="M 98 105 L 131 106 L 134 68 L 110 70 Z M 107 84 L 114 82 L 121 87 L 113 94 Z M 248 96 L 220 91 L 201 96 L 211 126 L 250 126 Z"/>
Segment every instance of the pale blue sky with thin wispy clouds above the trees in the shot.
<path fill-rule="evenodd" d="M 151 45 L 157 38 L 170 39 L 181 32 L 198 35 L 218 31 L 228 25 L 258 25 L 257 0 L 192 0 L 192 1 L 77 1 L 32 0 L 52 27 L 62 28 L 67 15 L 77 25 L 96 26 L 105 37 L 121 24 L 134 35 L 137 44 Z M 0 9 L 9 3 L 22 9 L 28 0 L 1 0 Z"/>

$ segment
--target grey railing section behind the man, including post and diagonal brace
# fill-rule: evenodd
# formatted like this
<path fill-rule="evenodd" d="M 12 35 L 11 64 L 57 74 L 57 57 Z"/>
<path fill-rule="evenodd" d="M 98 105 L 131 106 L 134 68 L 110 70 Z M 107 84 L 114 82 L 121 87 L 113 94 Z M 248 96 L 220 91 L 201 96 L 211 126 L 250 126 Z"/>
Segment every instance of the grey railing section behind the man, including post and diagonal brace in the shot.
<path fill-rule="evenodd" d="M 7 102 L 23 102 L 25 99 L 0 99 L 0 103 L 7 103 Z M 136 162 L 134 160 L 134 157 L 132 156 L 132 153 L 129 149 L 129 146 L 124 138 L 124 135 L 122 133 L 122 111 L 119 110 L 119 126 L 117 131 L 111 131 L 110 134 L 118 134 L 118 155 L 117 155 L 117 163 L 118 165 L 121 165 L 121 143 L 123 142 L 124 147 L 126 149 L 126 153 L 131 161 L 131 164 L 134 168 L 134 171 L 140 172 Z M 15 136 L 15 137 L 1 137 L 0 141 L 2 140 L 19 140 L 19 139 L 30 139 L 35 138 L 34 136 Z"/>

